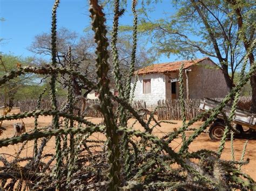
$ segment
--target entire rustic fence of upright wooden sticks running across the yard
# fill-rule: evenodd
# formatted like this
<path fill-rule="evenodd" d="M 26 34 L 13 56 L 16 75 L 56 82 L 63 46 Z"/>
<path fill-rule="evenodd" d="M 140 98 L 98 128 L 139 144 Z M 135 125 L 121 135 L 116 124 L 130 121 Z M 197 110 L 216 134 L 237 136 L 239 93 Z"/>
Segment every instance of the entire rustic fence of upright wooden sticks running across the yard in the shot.
<path fill-rule="evenodd" d="M 215 98 L 216 101 L 222 101 L 223 98 Z M 57 107 L 60 109 L 61 105 L 64 103 L 65 98 L 57 99 Z M 78 101 L 76 107 L 80 109 L 82 100 Z M 191 99 L 185 100 L 185 108 L 186 108 L 186 119 L 190 120 L 193 117 L 199 114 L 197 110 L 200 99 Z M 241 109 L 250 110 L 252 99 L 251 97 L 242 96 L 239 98 L 238 107 Z M 98 104 L 98 100 L 86 100 L 84 109 L 86 110 L 87 117 L 102 117 L 102 114 L 91 107 L 93 104 Z M 117 103 L 113 102 L 114 109 L 117 107 Z M 15 107 L 19 107 L 21 112 L 29 112 L 36 110 L 37 100 L 21 100 L 15 102 Z M 133 108 L 139 110 L 141 108 L 146 108 L 145 101 L 134 101 L 132 104 Z M 157 115 L 159 120 L 181 120 L 181 107 L 179 104 L 179 100 L 159 100 L 158 101 L 158 110 Z M 51 101 L 49 99 L 43 99 L 41 101 L 41 108 L 43 110 L 51 109 Z M 146 119 L 146 114 L 144 115 L 144 119 Z"/>

